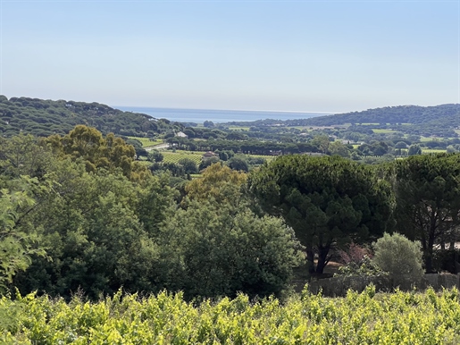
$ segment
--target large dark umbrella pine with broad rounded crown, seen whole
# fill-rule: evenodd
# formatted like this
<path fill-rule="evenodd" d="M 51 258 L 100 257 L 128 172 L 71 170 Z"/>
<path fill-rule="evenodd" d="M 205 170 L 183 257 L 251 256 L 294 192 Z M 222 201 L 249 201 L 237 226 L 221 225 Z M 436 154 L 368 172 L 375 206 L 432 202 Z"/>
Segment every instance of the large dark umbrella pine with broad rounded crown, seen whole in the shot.
<path fill-rule="evenodd" d="M 339 156 L 281 156 L 249 181 L 265 210 L 282 215 L 296 231 L 310 273 L 322 273 L 330 248 L 376 238 L 391 224 L 389 183 L 379 181 L 370 167 Z"/>

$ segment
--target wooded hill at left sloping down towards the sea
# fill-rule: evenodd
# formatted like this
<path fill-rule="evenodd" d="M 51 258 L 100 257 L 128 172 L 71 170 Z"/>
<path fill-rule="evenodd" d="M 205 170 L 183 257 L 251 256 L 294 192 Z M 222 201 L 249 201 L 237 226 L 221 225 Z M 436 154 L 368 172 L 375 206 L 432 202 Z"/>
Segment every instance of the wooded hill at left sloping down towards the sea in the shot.
<path fill-rule="evenodd" d="M 96 127 L 103 133 L 125 136 L 154 134 L 158 122 L 146 114 L 123 112 L 108 105 L 65 100 L 43 100 L 0 95 L 0 136 L 11 137 L 20 132 L 36 136 L 65 134 L 77 124 Z"/>

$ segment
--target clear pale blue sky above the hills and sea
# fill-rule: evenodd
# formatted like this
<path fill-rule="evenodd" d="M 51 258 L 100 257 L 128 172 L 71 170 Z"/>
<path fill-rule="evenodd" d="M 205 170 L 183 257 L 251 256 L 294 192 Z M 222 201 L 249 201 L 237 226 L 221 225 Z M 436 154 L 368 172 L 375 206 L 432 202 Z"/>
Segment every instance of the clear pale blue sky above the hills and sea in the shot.
<path fill-rule="evenodd" d="M 460 103 L 460 1 L 0 0 L 0 95 L 344 113 Z"/>

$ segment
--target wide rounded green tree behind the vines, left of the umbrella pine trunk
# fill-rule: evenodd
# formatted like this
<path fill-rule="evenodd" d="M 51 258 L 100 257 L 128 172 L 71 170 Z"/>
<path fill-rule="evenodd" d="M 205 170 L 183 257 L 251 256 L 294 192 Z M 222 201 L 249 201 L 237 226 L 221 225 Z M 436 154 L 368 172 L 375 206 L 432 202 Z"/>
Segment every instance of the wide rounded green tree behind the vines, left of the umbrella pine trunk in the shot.
<path fill-rule="evenodd" d="M 166 288 L 185 297 L 280 295 L 303 255 L 281 219 L 258 217 L 244 204 L 189 201 L 162 230 Z"/>

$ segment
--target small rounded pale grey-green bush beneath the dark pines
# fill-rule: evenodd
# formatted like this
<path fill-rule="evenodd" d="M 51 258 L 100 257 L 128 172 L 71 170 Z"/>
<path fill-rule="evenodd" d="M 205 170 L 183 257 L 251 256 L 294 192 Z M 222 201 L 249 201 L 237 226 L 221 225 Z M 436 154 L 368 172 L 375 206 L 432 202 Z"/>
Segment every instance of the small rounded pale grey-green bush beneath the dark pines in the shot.
<path fill-rule="evenodd" d="M 372 243 L 372 263 L 388 272 L 396 284 L 420 282 L 423 276 L 420 242 L 408 240 L 404 235 L 385 233 Z"/>

